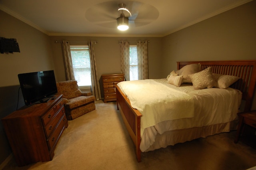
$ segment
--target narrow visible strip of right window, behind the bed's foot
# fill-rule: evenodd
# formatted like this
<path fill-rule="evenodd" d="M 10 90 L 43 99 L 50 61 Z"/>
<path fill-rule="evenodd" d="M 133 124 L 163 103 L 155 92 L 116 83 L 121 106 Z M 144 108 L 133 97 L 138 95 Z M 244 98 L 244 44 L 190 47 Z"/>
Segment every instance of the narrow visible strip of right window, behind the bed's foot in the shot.
<path fill-rule="evenodd" d="M 130 80 L 138 80 L 137 45 L 130 45 Z"/>

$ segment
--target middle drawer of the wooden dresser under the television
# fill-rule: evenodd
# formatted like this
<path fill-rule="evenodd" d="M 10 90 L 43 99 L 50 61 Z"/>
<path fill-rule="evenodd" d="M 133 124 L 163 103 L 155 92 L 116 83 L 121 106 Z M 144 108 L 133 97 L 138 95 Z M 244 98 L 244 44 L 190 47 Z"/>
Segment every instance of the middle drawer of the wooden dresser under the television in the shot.
<path fill-rule="evenodd" d="M 56 128 L 57 124 L 59 123 L 59 121 L 62 118 L 64 113 L 65 113 L 65 109 L 64 109 L 64 106 L 62 106 L 60 108 L 60 110 L 58 111 L 58 113 L 56 113 L 54 115 L 54 117 L 52 118 L 52 121 L 50 121 L 44 127 L 44 130 L 45 130 L 45 133 L 46 133 L 46 138 L 48 138 L 50 136 L 50 134 L 52 133 L 52 131 Z"/>

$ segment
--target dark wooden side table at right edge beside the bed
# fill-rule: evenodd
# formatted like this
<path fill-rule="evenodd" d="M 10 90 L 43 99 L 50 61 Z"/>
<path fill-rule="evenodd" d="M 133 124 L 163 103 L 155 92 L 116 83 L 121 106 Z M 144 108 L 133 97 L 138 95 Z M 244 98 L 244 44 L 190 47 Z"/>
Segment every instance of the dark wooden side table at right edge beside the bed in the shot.
<path fill-rule="evenodd" d="M 256 148 L 256 110 L 238 113 L 239 123 L 236 132 L 235 143 L 242 142 Z"/>

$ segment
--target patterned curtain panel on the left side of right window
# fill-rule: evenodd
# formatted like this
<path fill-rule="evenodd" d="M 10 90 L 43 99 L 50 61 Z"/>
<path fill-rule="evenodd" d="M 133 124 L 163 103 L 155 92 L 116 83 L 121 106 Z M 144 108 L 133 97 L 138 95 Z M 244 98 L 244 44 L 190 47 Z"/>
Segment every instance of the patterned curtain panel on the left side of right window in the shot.
<path fill-rule="evenodd" d="M 130 80 L 130 45 L 127 41 L 120 43 L 121 51 L 121 73 L 124 74 L 126 81 Z"/>

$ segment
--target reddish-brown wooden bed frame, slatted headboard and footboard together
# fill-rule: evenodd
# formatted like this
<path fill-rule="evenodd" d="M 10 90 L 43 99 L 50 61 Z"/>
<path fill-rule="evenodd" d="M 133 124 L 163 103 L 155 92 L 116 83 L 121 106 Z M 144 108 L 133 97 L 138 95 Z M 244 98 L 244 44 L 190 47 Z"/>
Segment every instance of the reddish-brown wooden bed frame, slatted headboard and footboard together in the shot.
<path fill-rule="evenodd" d="M 181 69 L 185 65 L 194 63 L 200 63 L 200 71 L 211 66 L 212 73 L 240 77 L 240 79 L 232 85 L 232 88 L 242 91 L 242 100 L 245 101 L 244 111 L 249 111 L 251 109 L 256 85 L 256 60 L 180 61 L 177 62 L 177 69 Z M 116 86 L 116 97 L 117 108 L 120 110 L 124 124 L 135 144 L 136 157 L 138 162 L 140 162 L 140 119 L 142 114 L 131 107 L 129 99 L 122 93 L 118 86 Z M 186 133 L 188 133 L 188 131 L 186 131 Z"/>

